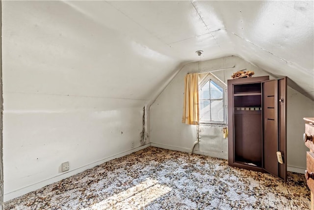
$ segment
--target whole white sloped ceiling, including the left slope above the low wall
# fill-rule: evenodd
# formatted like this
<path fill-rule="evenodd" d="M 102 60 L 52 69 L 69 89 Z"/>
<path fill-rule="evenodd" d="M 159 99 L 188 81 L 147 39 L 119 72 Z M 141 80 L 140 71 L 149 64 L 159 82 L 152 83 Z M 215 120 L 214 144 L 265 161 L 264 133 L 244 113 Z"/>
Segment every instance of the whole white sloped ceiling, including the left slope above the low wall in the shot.
<path fill-rule="evenodd" d="M 56 78 L 60 90 L 44 92 L 151 100 L 183 64 L 200 59 L 195 51 L 203 50 L 202 60 L 236 55 L 274 76 L 288 76 L 292 88 L 314 99 L 313 1 L 2 4 L 3 56 L 21 60 L 7 51 L 32 48 L 29 57 L 45 56 L 31 64 L 32 71 L 45 63 L 65 74 L 61 81 Z M 45 50 L 34 48 L 35 42 L 47 45 Z M 30 82 L 29 91 L 38 91 L 40 83 Z M 15 91 L 19 85 L 5 88 Z"/>

